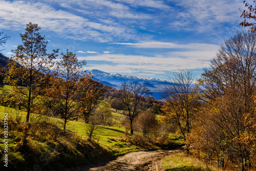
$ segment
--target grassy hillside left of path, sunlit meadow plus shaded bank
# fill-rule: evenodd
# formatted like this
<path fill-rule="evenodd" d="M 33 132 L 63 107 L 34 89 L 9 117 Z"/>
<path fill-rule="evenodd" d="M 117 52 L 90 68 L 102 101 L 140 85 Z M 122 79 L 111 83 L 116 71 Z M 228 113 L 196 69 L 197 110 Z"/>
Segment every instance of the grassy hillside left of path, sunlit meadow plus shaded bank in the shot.
<path fill-rule="evenodd" d="M 26 112 L 23 111 L 16 111 L 11 108 L 7 108 L 4 106 L 0 106 L 0 119 L 4 118 L 4 113 L 8 113 L 9 123 L 10 119 L 15 120 L 15 118 L 18 116 L 21 118 L 21 121 L 26 120 Z M 25 167 L 26 162 L 33 160 L 33 163 L 38 163 L 38 158 L 40 156 L 44 156 L 45 154 L 48 154 L 49 158 L 49 166 L 51 164 L 55 165 L 56 168 L 63 167 L 65 165 L 77 165 L 81 164 L 81 162 L 88 161 L 91 162 L 96 161 L 98 159 L 106 158 L 106 156 L 120 156 L 122 154 L 133 152 L 133 151 L 141 151 L 144 150 L 142 147 L 138 147 L 136 145 L 131 145 L 130 143 L 127 143 L 123 140 L 123 137 L 128 134 L 126 133 L 126 130 L 122 126 L 122 120 L 123 115 L 113 112 L 113 120 L 115 124 L 113 126 L 101 126 L 97 125 L 98 129 L 95 131 L 95 137 L 94 141 L 96 142 L 88 142 L 86 139 L 88 137 L 87 131 L 88 131 L 88 124 L 84 123 L 82 119 L 78 119 L 77 121 L 69 121 L 67 123 L 67 130 L 71 131 L 72 133 L 69 133 L 70 135 L 73 135 L 75 138 L 70 138 L 66 136 L 66 133 L 60 132 L 59 130 L 63 129 L 63 120 L 54 118 L 54 117 L 47 117 L 42 115 L 37 115 L 31 113 L 30 115 L 30 123 L 34 124 L 32 127 L 36 127 L 38 124 L 42 122 L 37 122 L 37 120 L 41 119 L 41 121 L 44 120 L 44 118 L 51 123 L 53 127 L 57 125 L 59 129 L 57 130 L 57 135 L 51 132 L 51 128 L 49 127 L 46 129 L 49 129 L 48 132 L 44 132 L 44 130 L 36 130 L 32 129 L 30 130 L 31 135 L 29 135 L 29 155 L 26 154 L 22 149 L 17 149 L 18 144 L 22 142 L 23 139 L 23 132 L 19 128 L 16 128 L 16 130 L 12 130 L 12 126 L 9 128 L 9 148 L 10 148 L 10 158 L 12 160 L 10 163 L 13 163 L 13 165 L 20 165 Z M 23 123 L 21 123 L 20 126 L 23 126 Z M 47 126 L 47 124 L 46 124 Z M 74 134 L 75 133 L 75 134 Z M 44 134 L 43 136 L 39 136 L 40 134 Z M 3 135 L 3 132 L 1 133 Z M 129 134 L 128 134 L 129 135 Z M 52 138 L 57 137 L 57 138 Z M 175 134 L 169 134 L 168 140 L 173 142 L 175 145 L 183 144 L 184 142 L 179 139 L 178 135 Z M 65 148 L 65 151 L 58 151 L 58 148 Z M 56 148 L 56 151 L 55 151 Z M 4 149 L 3 142 L 0 142 L 0 152 Z M 68 152 L 68 153 L 67 153 Z M 95 157 L 91 157 L 87 159 L 88 156 L 87 153 L 90 153 L 90 155 L 95 154 Z M 100 154 L 104 155 L 100 155 Z M 1 153 L 0 153 L 1 154 Z M 28 155 L 28 156 L 27 156 Z M 32 159 L 30 159 L 30 157 Z M 57 156 L 57 157 L 56 157 Z M 81 158 L 80 156 L 83 156 Z M 66 160 L 67 162 L 63 163 L 62 161 L 58 161 L 59 159 Z M 80 159 L 81 158 L 81 159 Z M 90 160 L 90 161 L 89 161 Z M 51 163 L 51 161 L 53 163 Z M 69 161 L 69 163 L 68 163 Z M 77 163 L 73 163 L 74 161 L 77 161 Z M 57 166 L 58 165 L 58 166 Z M 52 166 L 52 165 L 51 165 Z M 48 166 L 46 166 L 48 167 Z M 31 168 L 30 166 L 28 168 Z M 19 168 L 15 168 L 19 169 Z M 53 168 L 55 169 L 55 168 Z"/>

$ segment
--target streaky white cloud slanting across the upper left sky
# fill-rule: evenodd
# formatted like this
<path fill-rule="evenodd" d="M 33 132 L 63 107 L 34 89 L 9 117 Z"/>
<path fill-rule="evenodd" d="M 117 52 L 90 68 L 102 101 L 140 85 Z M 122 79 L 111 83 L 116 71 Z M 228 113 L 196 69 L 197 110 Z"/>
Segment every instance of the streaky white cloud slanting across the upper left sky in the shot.
<path fill-rule="evenodd" d="M 23 30 L 25 24 L 32 22 L 38 24 L 42 31 L 63 38 L 106 42 L 116 38 L 130 39 L 135 33 L 134 29 L 121 24 L 99 23 L 68 11 L 56 10 L 51 3 L 1 1 L 0 16 L 1 28 Z"/>

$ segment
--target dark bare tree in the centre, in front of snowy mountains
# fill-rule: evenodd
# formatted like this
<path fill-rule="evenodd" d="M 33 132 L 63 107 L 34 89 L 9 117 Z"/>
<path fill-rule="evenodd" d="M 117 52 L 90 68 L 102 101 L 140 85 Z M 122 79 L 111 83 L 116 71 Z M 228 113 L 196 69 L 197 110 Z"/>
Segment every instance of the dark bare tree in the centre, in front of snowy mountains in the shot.
<path fill-rule="evenodd" d="M 145 85 L 137 82 L 126 84 L 125 82 L 121 86 L 121 99 L 127 113 L 124 113 L 129 119 L 131 134 L 133 134 L 133 122 L 134 118 L 142 112 L 144 103 L 142 101 L 144 96 L 150 95 L 150 89 Z"/>

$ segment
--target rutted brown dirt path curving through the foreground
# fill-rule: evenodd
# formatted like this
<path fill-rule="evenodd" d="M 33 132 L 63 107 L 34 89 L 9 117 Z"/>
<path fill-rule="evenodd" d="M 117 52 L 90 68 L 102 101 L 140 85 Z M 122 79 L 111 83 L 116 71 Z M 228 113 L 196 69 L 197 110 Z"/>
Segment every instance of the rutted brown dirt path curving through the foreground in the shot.
<path fill-rule="evenodd" d="M 63 171 L 80 171 L 80 170 L 154 170 L 162 171 L 160 159 L 164 156 L 182 151 L 182 148 L 173 150 L 161 150 L 151 152 L 131 152 L 123 156 L 117 157 L 114 160 L 98 163 L 97 166 L 84 166 L 78 168 L 67 169 Z"/>

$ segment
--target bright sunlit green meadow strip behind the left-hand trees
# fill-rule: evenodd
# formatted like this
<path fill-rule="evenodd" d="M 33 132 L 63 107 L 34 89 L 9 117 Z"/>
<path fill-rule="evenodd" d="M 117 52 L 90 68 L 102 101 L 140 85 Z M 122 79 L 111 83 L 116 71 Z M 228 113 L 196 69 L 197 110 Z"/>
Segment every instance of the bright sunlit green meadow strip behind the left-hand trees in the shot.
<path fill-rule="evenodd" d="M 16 113 L 14 109 L 0 106 L 0 119 L 4 118 L 4 113 L 8 113 L 8 117 L 14 119 L 16 117 Z M 26 120 L 26 112 L 18 111 L 18 115 L 22 117 L 22 121 Z M 123 116 L 121 114 L 117 114 L 113 112 L 113 115 L 116 119 L 116 121 L 120 121 L 119 118 L 122 118 Z M 30 120 L 35 119 L 37 117 L 45 117 L 37 114 L 31 113 Z M 52 120 L 59 123 L 59 126 L 62 129 L 62 123 L 63 120 L 50 117 Z M 118 124 L 120 125 L 121 121 Z M 120 137 L 125 135 L 125 129 L 124 127 L 120 126 L 97 126 L 98 129 L 95 131 L 95 141 L 99 143 L 102 147 L 107 149 L 108 151 L 111 151 L 114 156 L 119 156 L 128 152 L 143 150 L 143 148 L 130 145 L 126 142 L 123 142 Z M 78 121 L 69 121 L 67 122 L 67 130 L 72 131 L 76 133 L 78 136 L 86 139 L 88 137 L 87 130 L 88 130 L 88 124 L 83 123 L 81 119 Z M 10 144 L 12 145 L 12 144 Z M 14 145 L 14 144 L 13 144 Z"/>

